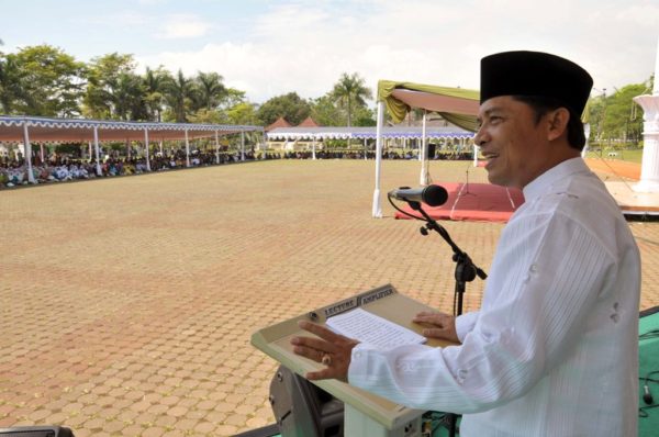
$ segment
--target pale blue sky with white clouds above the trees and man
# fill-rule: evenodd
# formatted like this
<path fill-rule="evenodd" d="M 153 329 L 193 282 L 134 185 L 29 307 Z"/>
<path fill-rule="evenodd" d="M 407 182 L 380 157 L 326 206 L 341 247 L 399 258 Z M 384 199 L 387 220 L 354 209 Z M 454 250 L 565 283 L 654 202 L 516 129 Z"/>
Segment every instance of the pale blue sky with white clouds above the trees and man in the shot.
<path fill-rule="evenodd" d="M 659 0 L 0 0 L 0 51 L 49 44 L 81 61 L 132 54 L 137 72 L 215 71 L 255 103 L 331 91 L 343 72 L 478 89 L 480 59 L 567 57 L 607 94 L 654 74 Z"/>

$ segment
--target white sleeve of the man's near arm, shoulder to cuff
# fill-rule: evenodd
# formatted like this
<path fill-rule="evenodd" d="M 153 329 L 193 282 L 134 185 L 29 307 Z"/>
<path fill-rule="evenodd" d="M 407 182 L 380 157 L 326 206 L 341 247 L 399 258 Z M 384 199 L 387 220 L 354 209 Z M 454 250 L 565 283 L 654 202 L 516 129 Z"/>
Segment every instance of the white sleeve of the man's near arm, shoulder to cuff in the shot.
<path fill-rule="evenodd" d="M 563 361 L 612 262 L 596 237 L 562 214 L 509 223 L 482 310 L 456 325 L 461 346 L 356 347 L 348 380 L 414 408 L 474 413 L 505 404 Z"/>

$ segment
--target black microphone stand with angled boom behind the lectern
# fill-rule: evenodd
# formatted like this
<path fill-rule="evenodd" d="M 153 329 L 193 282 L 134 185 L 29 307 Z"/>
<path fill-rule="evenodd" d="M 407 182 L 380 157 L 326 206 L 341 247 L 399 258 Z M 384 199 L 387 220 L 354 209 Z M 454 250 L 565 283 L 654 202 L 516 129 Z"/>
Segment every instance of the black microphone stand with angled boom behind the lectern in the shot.
<path fill-rule="evenodd" d="M 485 278 L 488 278 L 488 274 L 482 269 L 477 267 L 473 264 L 473 261 L 471 260 L 471 258 L 469 258 L 469 255 L 467 255 L 467 253 L 465 253 L 462 249 L 460 249 L 458 247 L 458 245 L 456 245 L 454 243 L 454 240 L 450 238 L 450 235 L 448 235 L 448 232 L 442 225 L 439 225 L 434 218 L 432 218 L 423 210 L 423 208 L 421 208 L 421 202 L 407 201 L 407 204 L 410 205 L 410 208 L 412 210 L 418 211 L 421 213 L 421 215 L 423 215 L 423 217 L 426 220 L 426 224 L 424 226 L 422 226 L 420 229 L 421 234 L 425 236 L 425 235 L 428 235 L 428 231 L 435 231 L 436 233 L 438 233 L 442 236 L 442 238 L 444 238 L 444 240 L 446 243 L 448 243 L 448 245 L 450 246 L 450 248 L 454 251 L 453 260 L 456 264 L 456 270 L 455 270 L 455 276 L 454 276 L 456 279 L 456 288 L 455 288 L 455 294 L 454 294 L 454 316 L 457 317 L 462 314 L 462 296 L 467 289 L 467 282 L 473 281 L 477 276 L 480 279 L 485 279 Z M 456 305 L 456 300 L 457 300 L 457 305 Z M 448 417 L 448 422 L 449 422 L 448 435 L 450 437 L 455 437 L 456 436 L 457 416 L 453 413 L 448 413 L 447 417 Z"/>

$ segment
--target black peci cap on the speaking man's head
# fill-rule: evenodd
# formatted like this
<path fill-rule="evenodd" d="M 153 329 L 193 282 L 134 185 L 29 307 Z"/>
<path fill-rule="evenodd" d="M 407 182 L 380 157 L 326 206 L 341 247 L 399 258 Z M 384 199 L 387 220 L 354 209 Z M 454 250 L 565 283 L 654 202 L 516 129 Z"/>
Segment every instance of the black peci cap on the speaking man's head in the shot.
<path fill-rule="evenodd" d="M 581 115 L 592 86 L 587 70 L 547 53 L 504 52 L 481 59 L 481 103 L 499 96 L 543 96 Z"/>

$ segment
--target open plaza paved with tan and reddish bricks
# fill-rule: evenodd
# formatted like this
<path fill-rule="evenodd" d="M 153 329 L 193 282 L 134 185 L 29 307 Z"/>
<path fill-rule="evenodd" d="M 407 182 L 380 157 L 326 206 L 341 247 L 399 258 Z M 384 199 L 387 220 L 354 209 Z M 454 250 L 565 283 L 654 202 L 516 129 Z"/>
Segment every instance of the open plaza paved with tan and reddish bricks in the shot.
<path fill-rule="evenodd" d="M 468 169 L 487 180 L 431 173 Z M 418 172 L 383 161 L 383 192 Z M 449 312 L 449 247 L 384 197 L 371 218 L 373 179 L 373 161 L 283 160 L 0 191 L 0 427 L 234 435 L 275 421 L 254 330 L 388 282 Z M 444 225 L 488 270 L 503 225 Z M 641 309 L 659 305 L 659 222 L 630 226 Z"/>

